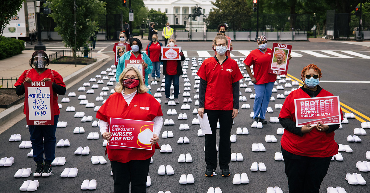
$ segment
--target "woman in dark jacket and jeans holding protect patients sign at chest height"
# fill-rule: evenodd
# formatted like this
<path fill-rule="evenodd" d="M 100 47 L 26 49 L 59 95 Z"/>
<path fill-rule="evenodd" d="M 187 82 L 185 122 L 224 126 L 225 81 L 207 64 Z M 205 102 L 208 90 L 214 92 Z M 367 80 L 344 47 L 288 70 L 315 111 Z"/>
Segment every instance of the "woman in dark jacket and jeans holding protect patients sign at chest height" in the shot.
<path fill-rule="evenodd" d="M 175 38 L 170 37 L 168 39 L 168 46 L 177 46 Z M 178 96 L 179 96 L 179 77 L 182 75 L 182 66 L 181 62 L 185 60 L 184 53 L 182 51 L 179 53 L 181 56 L 181 61 L 179 60 L 161 60 L 162 53 L 159 53 L 159 61 L 163 62 L 163 75 L 165 75 L 165 94 L 166 94 L 166 101 L 165 104 L 169 101 L 169 92 L 171 88 L 171 81 L 174 83 L 174 101 L 175 103 L 179 103 Z"/>

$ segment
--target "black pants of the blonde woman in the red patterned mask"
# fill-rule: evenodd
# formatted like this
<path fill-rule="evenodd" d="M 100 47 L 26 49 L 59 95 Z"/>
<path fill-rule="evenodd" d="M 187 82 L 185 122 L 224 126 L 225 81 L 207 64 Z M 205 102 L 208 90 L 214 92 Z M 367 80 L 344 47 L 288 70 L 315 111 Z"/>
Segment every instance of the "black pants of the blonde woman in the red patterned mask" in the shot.
<path fill-rule="evenodd" d="M 149 173 L 150 158 L 145 160 L 131 160 L 127 163 L 111 161 L 115 193 L 147 192 L 147 176 Z"/>

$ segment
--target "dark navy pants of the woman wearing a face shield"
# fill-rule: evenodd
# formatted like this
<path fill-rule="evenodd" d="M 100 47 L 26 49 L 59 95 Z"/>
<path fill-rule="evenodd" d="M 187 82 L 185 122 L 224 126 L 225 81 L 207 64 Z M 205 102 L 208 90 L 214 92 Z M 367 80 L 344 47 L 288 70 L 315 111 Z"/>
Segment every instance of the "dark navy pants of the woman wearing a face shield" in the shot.
<path fill-rule="evenodd" d="M 29 125 L 30 140 L 33 149 L 33 161 L 53 162 L 55 159 L 55 130 L 57 130 L 59 115 L 54 115 L 54 125 Z M 44 141 L 43 141 L 44 138 Z"/>

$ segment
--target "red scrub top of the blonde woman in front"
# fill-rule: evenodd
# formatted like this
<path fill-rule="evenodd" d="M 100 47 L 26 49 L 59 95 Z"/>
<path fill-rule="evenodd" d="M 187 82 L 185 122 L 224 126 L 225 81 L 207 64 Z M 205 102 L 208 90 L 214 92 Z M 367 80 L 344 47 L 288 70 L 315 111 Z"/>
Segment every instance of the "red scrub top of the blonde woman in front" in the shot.
<path fill-rule="evenodd" d="M 149 107 L 149 108 L 140 108 Z M 157 116 L 162 116 L 161 104 L 149 93 L 137 93 L 127 106 L 122 93 L 112 94 L 107 101 L 99 108 L 96 113 L 96 118 L 107 123 L 110 118 L 125 118 L 141 121 L 153 121 Z M 108 126 L 109 127 L 109 126 Z M 158 143 L 155 145 L 159 148 Z M 159 148 L 160 149 L 160 148 Z M 131 160 L 145 160 L 154 155 L 154 147 L 152 150 L 146 149 L 106 149 L 110 161 L 126 163 Z"/>

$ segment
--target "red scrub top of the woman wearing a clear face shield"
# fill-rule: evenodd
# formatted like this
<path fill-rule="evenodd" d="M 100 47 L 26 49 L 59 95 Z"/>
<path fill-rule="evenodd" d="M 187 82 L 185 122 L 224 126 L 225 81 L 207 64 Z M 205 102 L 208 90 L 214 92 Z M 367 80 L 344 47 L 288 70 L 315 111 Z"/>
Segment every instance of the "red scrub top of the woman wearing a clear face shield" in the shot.
<path fill-rule="evenodd" d="M 19 86 L 23 84 L 24 79 L 26 79 L 26 73 L 28 70 L 24 70 L 22 75 L 19 77 L 17 82 L 14 84 L 14 86 Z M 54 82 L 57 85 L 65 87 L 65 84 L 63 82 L 63 77 L 60 76 L 60 74 L 53 70 L 54 78 L 53 75 L 51 74 L 51 69 L 46 69 L 41 75 L 37 73 L 37 71 L 33 68 L 28 72 L 27 77 L 29 77 L 32 81 L 41 81 L 44 78 L 50 78 L 51 82 Z M 24 103 L 24 109 L 23 113 L 26 114 L 26 109 L 28 108 L 28 104 Z M 53 110 L 54 110 L 54 115 L 60 114 L 59 106 L 58 106 L 58 94 L 53 91 Z"/>

